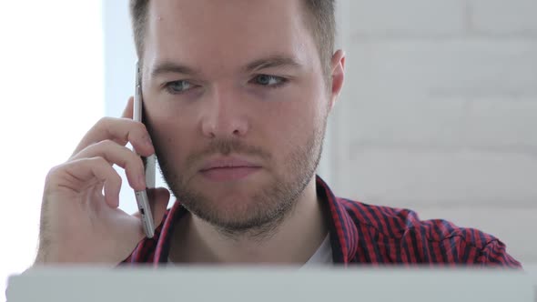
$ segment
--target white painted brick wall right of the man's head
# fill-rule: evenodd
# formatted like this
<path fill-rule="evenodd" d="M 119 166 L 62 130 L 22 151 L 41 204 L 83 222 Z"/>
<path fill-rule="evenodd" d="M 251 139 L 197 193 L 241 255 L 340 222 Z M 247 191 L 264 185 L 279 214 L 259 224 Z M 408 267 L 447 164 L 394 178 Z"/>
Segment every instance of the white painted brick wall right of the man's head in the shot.
<path fill-rule="evenodd" d="M 338 5 L 336 193 L 481 228 L 537 262 L 537 1 Z"/>

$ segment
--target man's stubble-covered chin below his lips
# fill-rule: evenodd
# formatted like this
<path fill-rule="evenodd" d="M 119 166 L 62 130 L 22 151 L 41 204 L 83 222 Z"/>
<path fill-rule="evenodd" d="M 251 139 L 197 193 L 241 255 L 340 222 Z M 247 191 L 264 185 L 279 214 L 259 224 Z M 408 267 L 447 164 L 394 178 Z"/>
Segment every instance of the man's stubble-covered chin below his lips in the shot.
<path fill-rule="evenodd" d="M 168 185 L 177 200 L 198 218 L 222 229 L 246 230 L 278 220 L 292 207 L 297 193 L 282 186 L 278 177 L 259 172 L 220 182 L 198 174 L 182 186 Z"/>

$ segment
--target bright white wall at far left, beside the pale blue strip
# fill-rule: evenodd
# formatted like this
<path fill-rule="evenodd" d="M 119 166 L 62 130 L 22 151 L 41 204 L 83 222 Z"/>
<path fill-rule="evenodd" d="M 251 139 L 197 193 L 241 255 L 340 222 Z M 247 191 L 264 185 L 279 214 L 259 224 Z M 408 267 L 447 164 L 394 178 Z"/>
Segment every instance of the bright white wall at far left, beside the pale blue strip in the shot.
<path fill-rule="evenodd" d="M 2 208 L 6 277 L 35 259 L 47 172 L 104 113 L 99 1 L 7 1 L 0 8 Z"/>

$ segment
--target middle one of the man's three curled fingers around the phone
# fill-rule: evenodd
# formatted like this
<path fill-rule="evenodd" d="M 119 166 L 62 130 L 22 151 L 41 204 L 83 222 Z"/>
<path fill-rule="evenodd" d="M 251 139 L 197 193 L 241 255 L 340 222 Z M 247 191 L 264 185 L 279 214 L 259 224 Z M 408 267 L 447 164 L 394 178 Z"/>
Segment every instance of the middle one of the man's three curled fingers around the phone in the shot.
<path fill-rule="evenodd" d="M 128 149 L 126 146 L 117 145 L 111 140 L 100 141 L 94 145 L 87 146 L 71 160 L 103 157 L 109 165 L 121 166 L 125 169 L 128 184 L 135 190 L 146 189 L 146 177 L 144 174 L 144 163 L 140 156 Z"/>

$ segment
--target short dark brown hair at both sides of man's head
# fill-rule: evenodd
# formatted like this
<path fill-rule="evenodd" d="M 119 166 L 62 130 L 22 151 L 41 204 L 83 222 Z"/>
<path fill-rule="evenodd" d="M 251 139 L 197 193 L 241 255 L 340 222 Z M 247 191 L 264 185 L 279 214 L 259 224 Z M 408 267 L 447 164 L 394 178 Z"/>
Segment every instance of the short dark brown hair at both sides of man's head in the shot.
<path fill-rule="evenodd" d="M 335 0 L 302 0 L 308 14 L 307 25 L 317 45 L 319 59 L 325 76 L 329 77 L 330 60 L 334 53 L 336 21 Z M 149 0 L 130 0 L 129 10 L 132 21 L 137 55 L 142 57 L 146 35 L 147 10 Z"/>

